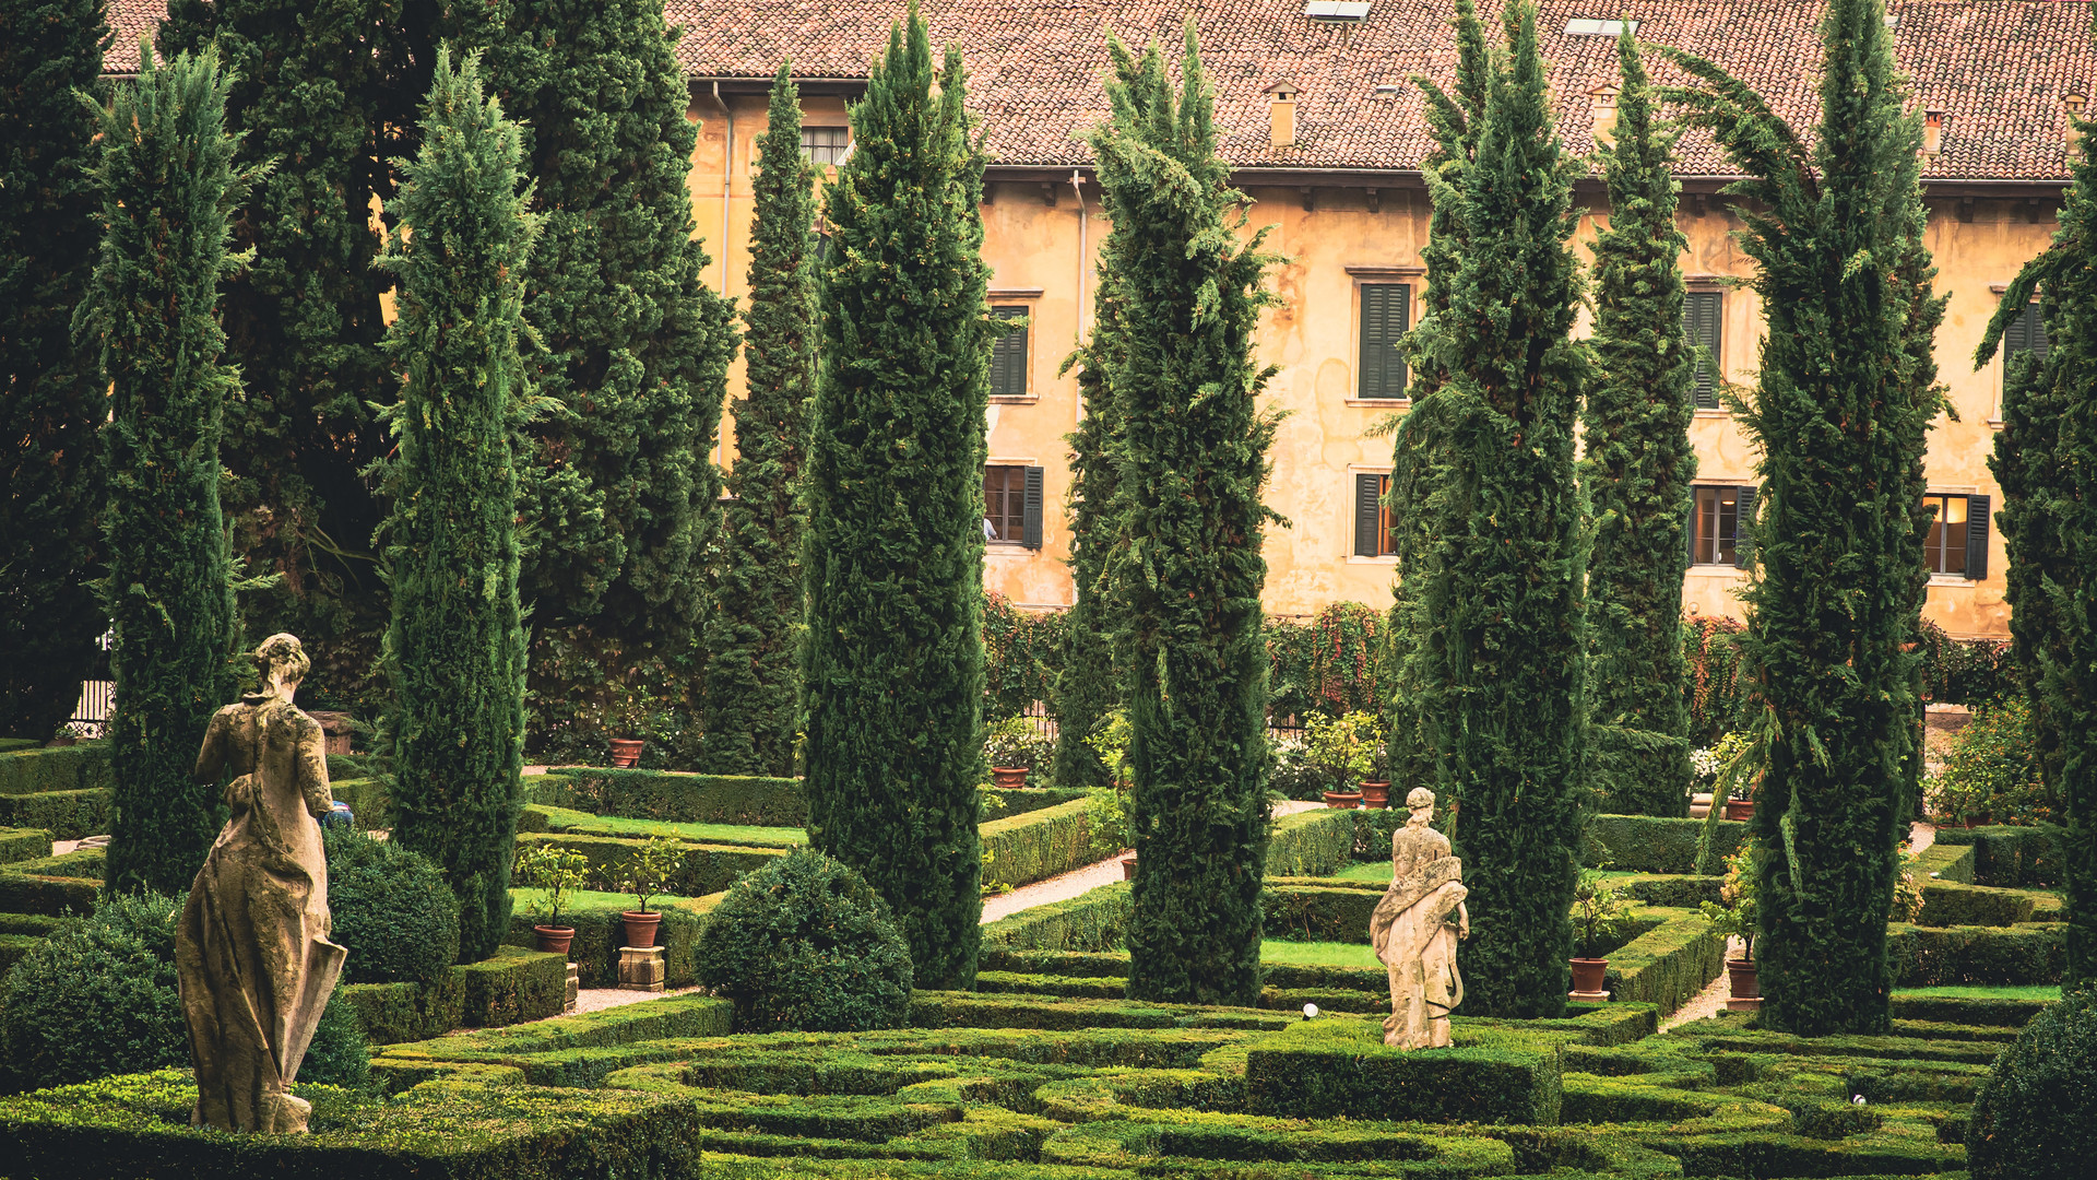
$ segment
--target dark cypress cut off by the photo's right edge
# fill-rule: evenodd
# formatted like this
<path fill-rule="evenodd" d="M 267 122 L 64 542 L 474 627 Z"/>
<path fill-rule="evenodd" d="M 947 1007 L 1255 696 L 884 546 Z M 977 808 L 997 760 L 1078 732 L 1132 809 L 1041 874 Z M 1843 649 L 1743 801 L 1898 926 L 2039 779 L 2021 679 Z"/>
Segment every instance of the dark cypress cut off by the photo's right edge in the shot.
<path fill-rule="evenodd" d="M 2097 978 L 2097 126 L 2082 122 L 2059 231 L 2003 292 L 1975 367 L 2040 296 L 2047 353 L 2009 361 L 2003 433 L 1990 470 L 2003 485 L 2009 632 L 2038 735 L 2040 771 L 2061 802 L 2068 964 L 2061 985 Z"/>

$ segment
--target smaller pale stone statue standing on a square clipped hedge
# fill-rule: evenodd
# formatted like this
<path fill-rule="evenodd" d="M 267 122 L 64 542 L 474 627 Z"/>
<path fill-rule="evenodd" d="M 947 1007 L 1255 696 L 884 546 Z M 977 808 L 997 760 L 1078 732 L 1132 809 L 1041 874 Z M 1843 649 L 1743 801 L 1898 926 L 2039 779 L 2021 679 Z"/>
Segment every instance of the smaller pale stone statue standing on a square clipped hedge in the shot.
<path fill-rule="evenodd" d="M 1390 888 L 1369 915 L 1369 943 L 1390 972 L 1384 1044 L 1430 1050 L 1449 1044 L 1449 1012 L 1464 1002 L 1455 941 L 1470 936 L 1470 890 L 1449 838 L 1428 827 L 1434 792 L 1413 787 L 1405 806 L 1411 817 L 1390 834 Z"/>

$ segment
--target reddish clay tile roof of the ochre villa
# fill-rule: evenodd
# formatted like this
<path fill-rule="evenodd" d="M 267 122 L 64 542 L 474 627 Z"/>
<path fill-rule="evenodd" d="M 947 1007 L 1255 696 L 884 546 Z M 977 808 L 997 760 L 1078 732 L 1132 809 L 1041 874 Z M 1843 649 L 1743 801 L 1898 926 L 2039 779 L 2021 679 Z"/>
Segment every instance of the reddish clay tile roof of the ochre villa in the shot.
<path fill-rule="evenodd" d="M 113 0 L 120 29 L 109 69 L 136 69 L 136 29 L 164 0 Z M 1455 73 L 1451 0 L 1374 0 L 1361 21 L 1313 21 L 1304 0 L 921 0 L 933 40 L 960 44 L 971 107 L 996 164 L 1082 166 L 1078 132 L 1105 115 L 1105 29 L 1132 46 L 1158 38 L 1176 59 L 1193 13 L 1216 86 L 1223 151 L 1239 168 L 1415 172 L 1428 151 L 1415 88 Z M 1497 10 L 1485 4 L 1487 19 Z M 763 80 L 782 57 L 797 78 L 866 78 L 904 4 L 879 0 L 667 0 L 684 25 L 677 57 L 692 78 Z M 1638 21 L 1638 38 L 1711 57 L 1793 120 L 1818 105 L 1822 0 L 1541 0 L 1543 57 L 1558 126 L 1573 151 L 1594 147 L 1590 90 L 1615 78 L 1615 38 L 1566 36 L 1571 19 Z M 2091 4 L 2082 0 L 1894 2 L 1896 57 L 1917 105 L 1946 111 L 1936 181 L 2066 181 L 2061 94 L 2097 92 Z M 128 61 L 128 65 L 126 65 Z M 1665 76 L 1663 69 L 1657 73 Z M 1294 82 L 1296 145 L 1273 147 L 1267 88 Z M 1680 172 L 1728 174 L 1705 136 L 1682 143 Z"/>

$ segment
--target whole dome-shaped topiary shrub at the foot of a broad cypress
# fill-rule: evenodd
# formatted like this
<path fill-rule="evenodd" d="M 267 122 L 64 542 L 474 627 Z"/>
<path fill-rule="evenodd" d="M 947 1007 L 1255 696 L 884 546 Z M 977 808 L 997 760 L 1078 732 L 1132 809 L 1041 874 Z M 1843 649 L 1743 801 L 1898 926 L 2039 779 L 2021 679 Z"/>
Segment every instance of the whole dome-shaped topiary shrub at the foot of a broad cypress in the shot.
<path fill-rule="evenodd" d="M 822 852 L 738 880 L 694 949 L 698 981 L 736 1004 L 736 1031 L 893 1029 L 910 1010 L 910 945 L 881 894 Z"/>

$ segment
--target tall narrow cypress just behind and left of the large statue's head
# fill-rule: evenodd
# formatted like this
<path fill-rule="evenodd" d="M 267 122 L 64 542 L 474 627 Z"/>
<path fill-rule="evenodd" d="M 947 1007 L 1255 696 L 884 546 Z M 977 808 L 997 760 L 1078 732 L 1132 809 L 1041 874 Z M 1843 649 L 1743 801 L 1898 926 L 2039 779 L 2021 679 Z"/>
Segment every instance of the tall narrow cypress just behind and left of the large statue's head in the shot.
<path fill-rule="evenodd" d="M 115 630 L 109 764 L 113 890 L 180 892 L 218 834 L 216 783 L 191 783 L 233 676 L 233 582 L 218 510 L 218 430 L 239 374 L 222 363 L 218 283 L 239 273 L 231 80 L 216 55 L 153 65 L 101 109 L 103 246 L 80 323 L 109 382 L 103 605 Z"/>

